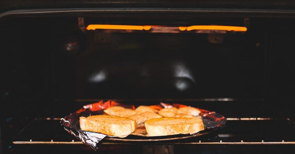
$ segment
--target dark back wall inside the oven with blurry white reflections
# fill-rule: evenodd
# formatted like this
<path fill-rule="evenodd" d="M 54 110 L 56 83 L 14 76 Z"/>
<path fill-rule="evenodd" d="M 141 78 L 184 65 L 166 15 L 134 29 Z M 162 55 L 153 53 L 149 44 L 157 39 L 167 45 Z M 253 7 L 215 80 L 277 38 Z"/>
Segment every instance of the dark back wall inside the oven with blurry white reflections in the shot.
<path fill-rule="evenodd" d="M 55 28 L 53 95 L 59 100 L 263 97 L 262 27 L 245 34 Z"/>

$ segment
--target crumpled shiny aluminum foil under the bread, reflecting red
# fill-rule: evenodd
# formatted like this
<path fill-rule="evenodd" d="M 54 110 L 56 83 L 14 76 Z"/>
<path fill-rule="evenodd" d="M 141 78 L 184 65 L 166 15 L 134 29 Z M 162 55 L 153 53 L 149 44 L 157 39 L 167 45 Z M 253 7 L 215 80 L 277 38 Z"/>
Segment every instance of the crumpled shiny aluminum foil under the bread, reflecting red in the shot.
<path fill-rule="evenodd" d="M 137 128 L 135 131 L 129 135 L 126 136 L 109 136 L 101 133 L 95 133 L 95 132 L 90 132 L 90 131 L 84 131 L 81 130 L 80 124 L 79 124 L 79 118 L 80 117 L 88 117 L 91 115 L 102 115 L 105 114 L 103 112 L 104 109 L 107 109 L 111 106 L 122 106 L 125 108 L 130 108 L 135 110 L 134 105 L 124 105 L 118 102 L 114 102 L 111 100 L 108 101 L 103 101 L 101 100 L 100 102 L 96 102 L 93 104 L 85 105 L 83 108 L 80 110 L 71 113 L 70 115 L 65 116 L 62 118 L 61 123 L 64 126 L 65 130 L 68 131 L 68 133 L 73 134 L 78 138 L 81 142 L 84 144 L 90 146 L 93 150 L 96 150 L 99 147 L 99 144 L 101 143 L 101 140 L 104 138 L 126 138 L 129 135 L 136 135 L 136 136 L 141 136 L 142 139 L 147 139 L 148 140 L 148 133 L 145 130 L 144 125 L 137 125 Z M 167 104 L 161 102 L 158 105 L 152 105 L 150 107 L 156 108 L 156 109 L 162 109 L 162 108 L 170 108 L 170 107 L 176 107 L 176 108 L 181 108 L 181 107 L 186 107 L 186 105 L 182 104 Z M 226 118 L 216 112 L 208 111 L 208 110 L 203 110 L 199 109 L 201 111 L 199 118 L 203 120 L 205 130 L 216 130 L 218 128 L 221 128 L 225 125 L 226 123 Z M 200 131 L 198 133 L 192 134 L 191 136 L 196 136 L 196 135 L 202 135 L 202 133 L 205 132 Z M 205 134 L 205 133 L 204 133 Z M 189 134 L 187 134 L 189 136 Z M 162 136 L 162 138 L 173 138 L 173 135 L 169 136 Z"/>

